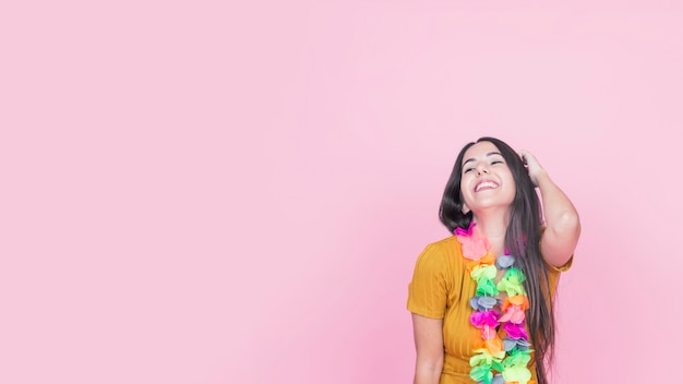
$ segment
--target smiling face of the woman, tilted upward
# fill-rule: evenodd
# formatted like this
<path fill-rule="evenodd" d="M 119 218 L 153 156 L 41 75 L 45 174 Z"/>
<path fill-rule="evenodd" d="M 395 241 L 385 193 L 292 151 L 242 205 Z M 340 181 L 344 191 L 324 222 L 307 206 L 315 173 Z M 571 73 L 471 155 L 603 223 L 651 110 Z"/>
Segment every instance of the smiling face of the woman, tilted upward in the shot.
<path fill-rule="evenodd" d="M 515 199 L 515 180 L 507 163 L 491 142 L 470 146 L 460 170 L 463 212 L 508 208 Z"/>

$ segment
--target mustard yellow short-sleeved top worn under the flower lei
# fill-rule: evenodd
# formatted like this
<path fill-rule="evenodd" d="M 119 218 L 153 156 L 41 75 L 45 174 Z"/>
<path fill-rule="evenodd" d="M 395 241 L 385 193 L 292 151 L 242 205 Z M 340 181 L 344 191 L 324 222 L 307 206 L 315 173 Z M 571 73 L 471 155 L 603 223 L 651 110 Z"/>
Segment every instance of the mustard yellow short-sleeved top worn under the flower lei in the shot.
<path fill-rule="evenodd" d="M 560 273 L 572 266 L 572 260 L 561 268 L 548 264 L 551 296 L 555 293 Z M 481 345 L 481 332 L 469 323 L 474 312 L 469 299 L 476 289 L 477 283 L 467 274 L 463 248 L 455 236 L 427 245 L 418 257 L 408 286 L 408 311 L 443 319 L 444 363 L 440 384 L 475 382 L 469 377 L 469 358 Z M 504 335 L 501 327 L 501 339 Z M 536 384 L 534 359 L 529 370 L 532 375 L 529 384 Z"/>

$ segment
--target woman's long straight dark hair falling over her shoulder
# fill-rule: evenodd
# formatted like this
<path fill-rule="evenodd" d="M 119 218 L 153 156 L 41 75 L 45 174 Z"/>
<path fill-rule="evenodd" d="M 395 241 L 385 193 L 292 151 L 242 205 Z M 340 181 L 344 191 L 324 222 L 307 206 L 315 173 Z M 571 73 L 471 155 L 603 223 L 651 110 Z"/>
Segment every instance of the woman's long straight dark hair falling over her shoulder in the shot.
<path fill-rule="evenodd" d="M 552 363 L 555 344 L 553 298 L 550 295 L 548 269 L 539 244 L 542 227 L 541 204 L 531 178 L 517 153 L 510 145 L 493 137 L 480 137 L 477 142 L 465 145 L 455 160 L 453 172 L 446 183 L 439 218 L 451 233 L 455 228 L 469 228 L 472 213 L 463 213 L 463 195 L 460 194 L 463 158 L 469 147 L 480 142 L 490 142 L 495 145 L 515 180 L 516 193 L 510 207 L 505 248 L 511 254 L 520 255 L 520 257 L 515 257 L 515 264 L 525 272 L 526 276 L 524 287 L 530 303 L 527 324 L 530 329 L 531 348 L 535 350 L 536 375 L 539 384 L 547 384 L 546 363 L 549 365 Z"/>

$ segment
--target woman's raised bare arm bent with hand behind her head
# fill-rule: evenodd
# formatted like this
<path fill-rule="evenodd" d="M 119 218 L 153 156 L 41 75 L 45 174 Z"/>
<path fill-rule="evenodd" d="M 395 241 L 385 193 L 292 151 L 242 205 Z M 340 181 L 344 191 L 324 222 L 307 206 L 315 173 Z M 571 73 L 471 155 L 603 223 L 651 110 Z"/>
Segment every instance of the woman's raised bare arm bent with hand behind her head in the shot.
<path fill-rule="evenodd" d="M 578 213 L 570 197 L 550 179 L 536 157 L 528 151 L 520 152 L 529 177 L 541 192 L 546 230 L 541 237 L 541 253 L 548 263 L 560 267 L 572 255 L 582 231 Z"/>

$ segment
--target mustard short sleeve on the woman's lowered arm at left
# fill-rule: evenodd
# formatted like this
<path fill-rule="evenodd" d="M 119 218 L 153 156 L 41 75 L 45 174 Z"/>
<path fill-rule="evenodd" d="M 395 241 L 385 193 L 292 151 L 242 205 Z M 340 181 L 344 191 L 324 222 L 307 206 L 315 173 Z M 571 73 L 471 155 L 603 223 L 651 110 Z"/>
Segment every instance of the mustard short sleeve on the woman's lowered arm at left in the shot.
<path fill-rule="evenodd" d="M 434 244 L 418 256 L 408 286 L 408 311 L 431 319 L 443 319 L 448 296 L 446 254 Z"/>

